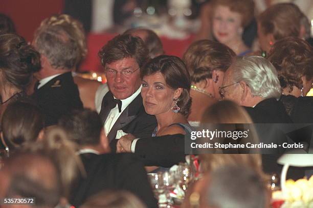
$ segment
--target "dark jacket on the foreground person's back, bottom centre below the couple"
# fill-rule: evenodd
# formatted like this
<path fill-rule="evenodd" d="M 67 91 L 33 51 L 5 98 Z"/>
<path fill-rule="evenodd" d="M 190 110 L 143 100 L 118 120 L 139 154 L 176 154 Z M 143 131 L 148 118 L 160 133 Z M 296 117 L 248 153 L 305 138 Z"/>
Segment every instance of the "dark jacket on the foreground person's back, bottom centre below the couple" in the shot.
<path fill-rule="evenodd" d="M 138 196 L 148 207 L 157 207 L 143 164 L 135 154 L 80 155 L 87 176 L 74 184 L 70 203 L 78 207 L 103 190 L 126 190 Z"/>

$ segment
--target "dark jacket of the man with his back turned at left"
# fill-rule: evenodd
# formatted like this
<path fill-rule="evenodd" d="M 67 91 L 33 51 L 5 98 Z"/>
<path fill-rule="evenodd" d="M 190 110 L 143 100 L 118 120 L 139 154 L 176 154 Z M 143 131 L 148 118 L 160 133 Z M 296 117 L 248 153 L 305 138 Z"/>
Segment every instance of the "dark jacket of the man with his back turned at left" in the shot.
<path fill-rule="evenodd" d="M 83 108 L 71 72 L 54 77 L 46 85 L 36 89 L 33 97 L 44 115 L 46 126 L 57 124 L 62 115 L 73 109 Z"/>

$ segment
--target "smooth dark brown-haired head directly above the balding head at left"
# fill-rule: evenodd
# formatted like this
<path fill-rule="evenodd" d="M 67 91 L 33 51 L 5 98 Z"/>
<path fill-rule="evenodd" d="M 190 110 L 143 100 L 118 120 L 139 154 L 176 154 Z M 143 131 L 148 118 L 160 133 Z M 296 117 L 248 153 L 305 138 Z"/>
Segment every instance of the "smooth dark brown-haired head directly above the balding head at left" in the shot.
<path fill-rule="evenodd" d="M 14 151 L 43 137 L 43 115 L 39 108 L 31 103 L 10 103 L 1 123 L 1 139 L 7 151 Z"/>

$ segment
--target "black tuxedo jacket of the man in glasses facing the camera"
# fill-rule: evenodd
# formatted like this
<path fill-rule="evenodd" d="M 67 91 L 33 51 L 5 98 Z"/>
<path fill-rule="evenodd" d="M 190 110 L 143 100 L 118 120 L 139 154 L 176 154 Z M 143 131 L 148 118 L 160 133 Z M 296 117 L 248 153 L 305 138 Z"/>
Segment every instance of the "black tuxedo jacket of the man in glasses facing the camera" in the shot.
<path fill-rule="evenodd" d="M 103 99 L 101 105 L 101 111 L 99 113 L 102 123 L 104 122 L 111 111 L 106 100 L 112 99 L 113 94 L 108 91 Z M 155 116 L 148 115 L 143 106 L 141 94 L 139 94 L 122 112 L 120 117 L 117 119 L 110 132 L 107 134 L 107 138 L 110 142 L 110 147 L 112 152 L 116 152 L 117 140 L 116 134 L 119 129 L 123 132 L 132 134 L 135 137 L 151 137 L 153 129 L 157 126 L 157 119 Z"/>

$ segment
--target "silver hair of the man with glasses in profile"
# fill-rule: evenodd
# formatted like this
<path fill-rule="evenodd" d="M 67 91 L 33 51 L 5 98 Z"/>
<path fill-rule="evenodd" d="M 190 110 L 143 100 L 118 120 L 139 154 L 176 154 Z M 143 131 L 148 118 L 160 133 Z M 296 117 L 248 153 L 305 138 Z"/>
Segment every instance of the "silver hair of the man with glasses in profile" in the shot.
<path fill-rule="evenodd" d="M 237 58 L 232 65 L 234 83 L 243 81 L 254 96 L 279 98 L 281 87 L 275 67 L 263 57 L 247 56 Z"/>

